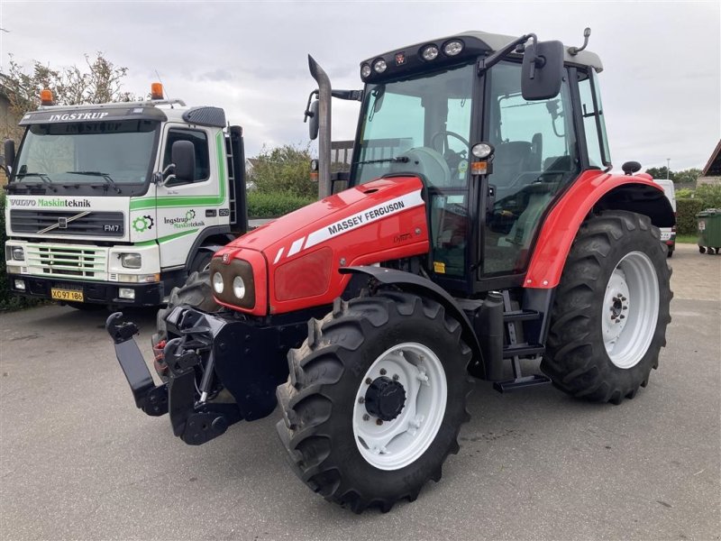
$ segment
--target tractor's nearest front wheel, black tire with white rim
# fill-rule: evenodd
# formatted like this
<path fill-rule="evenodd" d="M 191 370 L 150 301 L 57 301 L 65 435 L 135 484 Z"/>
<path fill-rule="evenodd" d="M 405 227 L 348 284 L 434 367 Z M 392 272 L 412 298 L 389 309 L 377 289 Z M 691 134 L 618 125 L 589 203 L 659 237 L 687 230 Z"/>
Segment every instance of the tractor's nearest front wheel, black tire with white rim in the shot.
<path fill-rule="evenodd" d="M 278 435 L 301 480 L 360 513 L 415 500 L 458 452 L 470 348 L 442 305 L 399 291 L 337 300 L 288 353 Z"/>

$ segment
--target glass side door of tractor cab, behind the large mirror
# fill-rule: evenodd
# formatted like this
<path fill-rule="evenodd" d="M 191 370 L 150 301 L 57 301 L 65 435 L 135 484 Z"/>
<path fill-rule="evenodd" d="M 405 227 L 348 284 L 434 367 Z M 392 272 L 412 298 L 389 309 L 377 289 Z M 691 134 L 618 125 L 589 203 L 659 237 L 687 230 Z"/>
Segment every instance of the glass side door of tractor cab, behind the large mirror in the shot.
<path fill-rule="evenodd" d="M 558 96 L 526 101 L 520 64 L 502 62 L 490 71 L 488 108 L 495 201 L 483 232 L 482 274 L 520 273 L 546 208 L 580 174 L 568 78 Z"/>

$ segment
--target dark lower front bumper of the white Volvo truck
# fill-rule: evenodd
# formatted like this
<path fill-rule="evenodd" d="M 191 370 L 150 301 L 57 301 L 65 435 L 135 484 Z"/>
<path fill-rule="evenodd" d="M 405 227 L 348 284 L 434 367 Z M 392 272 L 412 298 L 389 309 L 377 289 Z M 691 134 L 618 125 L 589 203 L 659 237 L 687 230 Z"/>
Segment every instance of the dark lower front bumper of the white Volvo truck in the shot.
<path fill-rule="evenodd" d="M 135 284 L 125 282 L 80 282 L 67 279 L 50 279 L 28 274 L 8 274 L 9 289 L 14 295 L 32 298 L 47 298 L 62 302 L 63 299 L 53 298 L 52 289 L 79 291 L 86 304 L 157 307 L 165 298 L 165 285 L 162 282 Z M 121 297 L 124 289 L 124 297 Z M 129 293 L 132 291 L 132 294 Z M 131 297 L 132 298 L 128 298 Z M 70 302 L 71 299 L 65 299 Z"/>

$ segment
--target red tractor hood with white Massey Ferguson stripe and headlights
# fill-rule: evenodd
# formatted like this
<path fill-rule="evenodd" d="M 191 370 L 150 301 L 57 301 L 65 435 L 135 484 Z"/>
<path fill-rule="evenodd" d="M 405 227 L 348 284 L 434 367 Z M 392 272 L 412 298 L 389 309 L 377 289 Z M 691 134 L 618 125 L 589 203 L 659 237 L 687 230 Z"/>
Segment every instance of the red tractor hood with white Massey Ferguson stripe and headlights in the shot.
<path fill-rule="evenodd" d="M 341 267 L 424 254 L 428 239 L 421 179 L 374 180 L 282 216 L 216 252 L 211 276 L 220 272 L 223 287 L 215 289 L 215 299 L 256 316 L 330 304 L 350 280 L 338 272 Z"/>

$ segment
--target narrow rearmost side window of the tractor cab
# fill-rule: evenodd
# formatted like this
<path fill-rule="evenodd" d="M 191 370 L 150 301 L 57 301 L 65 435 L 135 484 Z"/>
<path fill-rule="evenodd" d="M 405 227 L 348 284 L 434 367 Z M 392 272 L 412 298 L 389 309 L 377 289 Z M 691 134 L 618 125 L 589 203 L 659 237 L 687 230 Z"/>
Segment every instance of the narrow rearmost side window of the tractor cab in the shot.
<path fill-rule="evenodd" d="M 589 165 L 600 169 L 611 164 L 606 136 L 606 122 L 603 116 L 601 96 L 598 92 L 598 80 L 593 69 L 589 74 L 579 70 L 579 93 L 583 130 L 586 133 L 586 146 L 589 151 Z"/>

